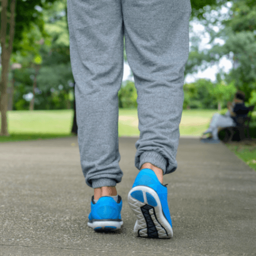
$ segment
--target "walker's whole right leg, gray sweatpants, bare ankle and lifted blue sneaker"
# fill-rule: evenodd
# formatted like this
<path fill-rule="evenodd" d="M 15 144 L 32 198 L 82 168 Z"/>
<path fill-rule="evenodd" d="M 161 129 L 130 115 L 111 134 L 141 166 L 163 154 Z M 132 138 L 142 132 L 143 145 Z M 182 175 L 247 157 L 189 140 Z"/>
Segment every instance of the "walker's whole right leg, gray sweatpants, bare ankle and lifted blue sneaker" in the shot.
<path fill-rule="evenodd" d="M 128 194 L 141 237 L 171 238 L 167 187 L 162 175 L 177 168 L 184 67 L 189 50 L 189 0 L 123 0 L 124 35 L 138 93 L 140 138 Z"/>

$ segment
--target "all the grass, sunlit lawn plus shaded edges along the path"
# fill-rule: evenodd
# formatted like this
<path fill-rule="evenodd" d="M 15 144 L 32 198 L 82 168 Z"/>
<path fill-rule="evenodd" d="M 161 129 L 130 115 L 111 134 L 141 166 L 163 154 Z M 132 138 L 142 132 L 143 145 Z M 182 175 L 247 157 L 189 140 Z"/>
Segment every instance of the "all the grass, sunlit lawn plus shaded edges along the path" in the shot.
<path fill-rule="evenodd" d="M 182 135 L 200 136 L 209 126 L 216 110 L 184 110 L 179 132 Z M 223 112 L 223 111 L 222 111 Z M 72 137 L 70 130 L 73 110 L 9 111 L 9 137 L 0 137 L 0 143 L 19 140 L 40 140 Z M 1 119 L 0 119 L 1 123 Z M 137 110 L 119 110 L 118 136 L 139 136 Z M 256 170 L 256 148 L 227 144 L 239 158 Z"/>

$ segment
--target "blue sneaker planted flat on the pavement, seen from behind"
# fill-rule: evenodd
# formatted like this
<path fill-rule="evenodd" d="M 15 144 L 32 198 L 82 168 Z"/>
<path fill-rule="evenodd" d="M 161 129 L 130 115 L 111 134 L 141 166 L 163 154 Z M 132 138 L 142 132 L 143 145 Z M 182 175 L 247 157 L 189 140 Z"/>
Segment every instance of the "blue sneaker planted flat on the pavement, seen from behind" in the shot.
<path fill-rule="evenodd" d="M 119 230 L 123 225 L 121 220 L 122 198 L 118 195 L 117 203 L 112 197 L 101 197 L 97 203 L 94 195 L 91 198 L 91 213 L 88 226 L 95 231 Z"/>

